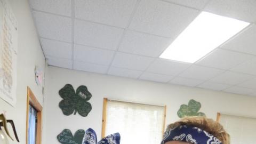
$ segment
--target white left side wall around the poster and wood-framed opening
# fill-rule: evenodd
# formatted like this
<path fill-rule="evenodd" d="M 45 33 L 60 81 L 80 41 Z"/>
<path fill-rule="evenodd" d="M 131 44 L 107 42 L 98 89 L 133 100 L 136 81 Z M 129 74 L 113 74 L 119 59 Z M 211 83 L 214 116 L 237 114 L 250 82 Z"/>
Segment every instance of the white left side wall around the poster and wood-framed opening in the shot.
<path fill-rule="evenodd" d="M 9 1 L 13 13 L 18 21 L 17 105 L 12 107 L 0 99 L 0 114 L 3 113 L 3 111 L 6 111 L 6 117 L 8 119 L 13 119 L 20 143 L 25 144 L 27 86 L 29 86 L 34 92 L 38 101 L 43 104 L 42 89 L 40 89 L 35 83 L 34 69 L 37 65 L 44 70 L 45 58 L 38 41 L 38 36 L 30 13 L 28 1 L 7 1 Z M 18 142 L 10 140 L 10 143 Z"/>

